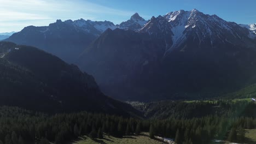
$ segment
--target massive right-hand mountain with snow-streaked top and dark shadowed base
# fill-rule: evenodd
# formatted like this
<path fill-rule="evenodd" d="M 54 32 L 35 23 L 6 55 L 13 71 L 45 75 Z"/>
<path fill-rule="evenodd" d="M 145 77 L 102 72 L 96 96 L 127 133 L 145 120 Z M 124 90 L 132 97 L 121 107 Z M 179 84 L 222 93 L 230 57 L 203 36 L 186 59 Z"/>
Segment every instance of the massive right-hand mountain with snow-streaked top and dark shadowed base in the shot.
<path fill-rule="evenodd" d="M 108 29 L 78 60 L 116 98 L 213 97 L 255 81 L 255 40 L 234 22 L 179 10 L 135 31 Z"/>

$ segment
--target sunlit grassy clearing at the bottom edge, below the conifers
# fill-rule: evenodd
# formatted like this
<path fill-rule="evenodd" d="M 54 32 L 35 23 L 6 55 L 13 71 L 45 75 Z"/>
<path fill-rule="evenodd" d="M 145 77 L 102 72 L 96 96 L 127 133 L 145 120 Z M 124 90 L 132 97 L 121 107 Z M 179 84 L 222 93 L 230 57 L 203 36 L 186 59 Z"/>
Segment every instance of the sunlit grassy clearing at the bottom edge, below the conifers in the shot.
<path fill-rule="evenodd" d="M 163 143 L 161 140 L 158 139 L 150 139 L 148 133 L 141 133 L 139 136 L 124 136 L 123 138 L 117 138 L 113 136 L 104 135 L 104 139 L 95 139 L 92 140 L 88 136 L 80 137 L 80 140 L 75 141 L 71 144 L 94 144 L 94 143 L 134 143 L 134 144 L 150 144 L 156 143 L 160 144 Z"/>

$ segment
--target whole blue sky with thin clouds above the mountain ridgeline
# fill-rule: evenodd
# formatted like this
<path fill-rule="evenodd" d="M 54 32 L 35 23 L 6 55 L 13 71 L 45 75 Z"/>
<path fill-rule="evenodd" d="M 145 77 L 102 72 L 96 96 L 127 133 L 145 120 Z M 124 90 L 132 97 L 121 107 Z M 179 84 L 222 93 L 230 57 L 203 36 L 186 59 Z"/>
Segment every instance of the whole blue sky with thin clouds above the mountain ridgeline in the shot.
<path fill-rule="evenodd" d="M 20 31 L 25 26 L 48 26 L 61 20 L 104 21 L 115 24 L 139 13 L 144 19 L 175 10 L 197 9 L 226 21 L 256 23 L 255 0 L 0 0 L 0 33 Z"/>

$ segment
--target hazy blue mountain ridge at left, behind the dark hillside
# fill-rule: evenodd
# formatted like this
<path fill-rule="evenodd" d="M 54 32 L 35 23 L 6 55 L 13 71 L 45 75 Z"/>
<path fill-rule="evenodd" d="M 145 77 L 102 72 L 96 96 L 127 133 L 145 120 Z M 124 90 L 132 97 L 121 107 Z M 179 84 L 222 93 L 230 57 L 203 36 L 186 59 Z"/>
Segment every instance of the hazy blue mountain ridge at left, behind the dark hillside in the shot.
<path fill-rule="evenodd" d="M 73 63 L 84 48 L 107 28 L 115 29 L 117 26 L 109 21 L 57 20 L 49 26 L 25 27 L 5 41 L 35 46 Z"/>

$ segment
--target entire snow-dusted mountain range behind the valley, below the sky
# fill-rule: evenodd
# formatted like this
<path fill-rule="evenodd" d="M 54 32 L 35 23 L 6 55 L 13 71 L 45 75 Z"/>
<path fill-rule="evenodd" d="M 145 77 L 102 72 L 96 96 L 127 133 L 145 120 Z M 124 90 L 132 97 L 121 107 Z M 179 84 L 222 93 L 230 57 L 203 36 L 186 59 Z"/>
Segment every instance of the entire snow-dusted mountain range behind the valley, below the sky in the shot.
<path fill-rule="evenodd" d="M 7 41 L 37 46 L 93 75 L 122 100 L 213 97 L 255 80 L 255 25 L 238 25 L 199 10 L 144 20 L 57 20 L 29 26 Z"/>

